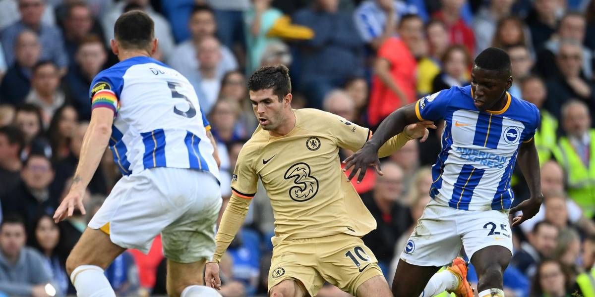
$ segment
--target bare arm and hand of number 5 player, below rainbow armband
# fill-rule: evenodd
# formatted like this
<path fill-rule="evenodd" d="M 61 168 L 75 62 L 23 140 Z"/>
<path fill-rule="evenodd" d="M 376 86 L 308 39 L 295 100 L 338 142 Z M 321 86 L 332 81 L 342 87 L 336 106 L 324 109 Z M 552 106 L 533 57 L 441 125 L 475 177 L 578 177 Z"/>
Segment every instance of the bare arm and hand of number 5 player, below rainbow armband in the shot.
<path fill-rule="evenodd" d="M 74 172 L 68 195 L 64 197 L 54 214 L 55 222 L 60 222 L 73 215 L 74 208 L 85 214 L 83 206 L 84 191 L 89 185 L 95 170 L 104 156 L 114 123 L 114 111 L 109 108 L 95 108 L 91 112 L 89 128 L 84 133 L 80 149 L 79 165 Z"/>

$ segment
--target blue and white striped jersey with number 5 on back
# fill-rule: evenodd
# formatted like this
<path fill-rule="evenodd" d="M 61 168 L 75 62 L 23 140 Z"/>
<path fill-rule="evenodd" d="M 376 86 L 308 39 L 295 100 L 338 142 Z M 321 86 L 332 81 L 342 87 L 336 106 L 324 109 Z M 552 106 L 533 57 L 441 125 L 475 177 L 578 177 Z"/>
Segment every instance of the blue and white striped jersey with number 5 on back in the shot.
<path fill-rule="evenodd" d="M 209 123 L 190 82 L 146 56 L 126 59 L 93 79 L 92 108 L 115 112 L 109 149 L 123 175 L 148 168 L 219 169 Z"/>

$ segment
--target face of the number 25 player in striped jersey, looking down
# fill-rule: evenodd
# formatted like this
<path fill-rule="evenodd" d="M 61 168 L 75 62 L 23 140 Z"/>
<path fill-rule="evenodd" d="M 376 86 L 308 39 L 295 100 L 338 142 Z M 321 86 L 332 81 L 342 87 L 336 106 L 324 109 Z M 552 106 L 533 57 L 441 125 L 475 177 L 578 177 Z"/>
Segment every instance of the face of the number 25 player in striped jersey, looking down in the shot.
<path fill-rule="evenodd" d="M 512 77 L 499 71 L 486 70 L 473 66 L 471 71 L 471 90 L 475 108 L 493 110 L 494 105 L 503 99 L 512 85 Z"/>

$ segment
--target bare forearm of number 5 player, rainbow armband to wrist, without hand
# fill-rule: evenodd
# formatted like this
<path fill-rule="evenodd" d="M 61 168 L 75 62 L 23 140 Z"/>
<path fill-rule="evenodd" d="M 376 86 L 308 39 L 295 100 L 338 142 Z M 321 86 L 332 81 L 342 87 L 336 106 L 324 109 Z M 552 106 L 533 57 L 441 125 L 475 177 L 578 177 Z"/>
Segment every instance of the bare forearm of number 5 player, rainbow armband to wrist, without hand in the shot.
<path fill-rule="evenodd" d="M 72 182 L 71 189 L 84 191 L 97 170 L 111 136 L 111 125 L 114 112 L 107 108 L 94 109 L 89 128 L 84 134 L 80 149 L 79 165 Z"/>

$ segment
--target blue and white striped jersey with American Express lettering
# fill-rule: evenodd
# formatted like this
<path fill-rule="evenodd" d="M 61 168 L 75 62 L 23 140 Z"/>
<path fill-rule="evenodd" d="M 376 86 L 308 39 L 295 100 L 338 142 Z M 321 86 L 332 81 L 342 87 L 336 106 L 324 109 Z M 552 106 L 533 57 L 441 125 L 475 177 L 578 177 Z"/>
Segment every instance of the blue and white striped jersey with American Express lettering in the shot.
<path fill-rule="evenodd" d="M 518 149 L 533 138 L 540 115 L 535 105 L 506 95 L 498 111 L 475 108 L 471 86 L 442 90 L 416 103 L 420 121 L 445 121 L 442 150 L 432 167 L 430 196 L 436 201 L 463 210 L 511 207 Z"/>

